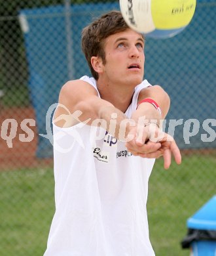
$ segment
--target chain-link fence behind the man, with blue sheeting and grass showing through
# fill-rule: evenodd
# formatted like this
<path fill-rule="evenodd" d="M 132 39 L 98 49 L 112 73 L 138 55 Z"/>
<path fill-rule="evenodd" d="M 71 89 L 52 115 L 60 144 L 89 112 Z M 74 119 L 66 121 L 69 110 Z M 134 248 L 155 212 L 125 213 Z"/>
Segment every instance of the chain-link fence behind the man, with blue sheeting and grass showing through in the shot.
<path fill-rule="evenodd" d="M 45 251 L 54 213 L 46 112 L 65 81 L 90 75 L 81 30 L 111 9 L 119 9 L 118 1 L 0 0 L 1 255 Z M 183 154 L 182 165 L 168 172 L 158 160 L 150 179 L 149 228 L 157 255 L 189 255 L 179 244 L 187 218 L 216 194 L 215 13 L 216 1 L 199 0 L 179 35 L 146 39 L 145 78 L 169 93 L 166 130 Z"/>

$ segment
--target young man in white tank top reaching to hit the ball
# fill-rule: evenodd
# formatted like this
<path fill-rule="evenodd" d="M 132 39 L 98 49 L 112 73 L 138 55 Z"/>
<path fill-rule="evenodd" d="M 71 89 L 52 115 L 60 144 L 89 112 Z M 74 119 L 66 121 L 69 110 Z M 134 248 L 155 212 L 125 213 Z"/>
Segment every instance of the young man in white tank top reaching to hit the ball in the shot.
<path fill-rule="evenodd" d="M 181 154 L 158 129 L 170 99 L 143 81 L 144 45 L 118 11 L 82 32 L 93 77 L 67 82 L 54 114 L 56 213 L 46 256 L 154 255 L 149 176 L 154 158 L 164 156 L 167 169 Z"/>

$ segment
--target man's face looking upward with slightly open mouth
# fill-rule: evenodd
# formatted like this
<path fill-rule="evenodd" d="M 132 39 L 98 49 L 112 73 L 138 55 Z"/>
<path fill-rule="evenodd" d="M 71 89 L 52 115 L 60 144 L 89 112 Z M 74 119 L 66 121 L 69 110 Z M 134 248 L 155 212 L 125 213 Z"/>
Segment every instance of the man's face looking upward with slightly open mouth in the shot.
<path fill-rule="evenodd" d="M 115 33 L 105 39 L 105 64 L 100 74 L 108 82 L 138 85 L 144 75 L 144 40 L 134 30 Z"/>

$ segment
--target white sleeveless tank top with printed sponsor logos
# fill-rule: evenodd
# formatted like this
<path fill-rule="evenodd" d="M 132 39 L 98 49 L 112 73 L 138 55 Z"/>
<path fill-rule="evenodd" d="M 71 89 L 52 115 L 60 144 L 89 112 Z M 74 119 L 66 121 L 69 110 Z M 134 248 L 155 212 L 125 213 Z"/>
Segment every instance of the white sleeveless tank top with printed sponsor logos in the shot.
<path fill-rule="evenodd" d="M 81 79 L 98 91 L 94 78 Z M 149 85 L 135 87 L 128 118 Z M 53 133 L 56 212 L 45 256 L 154 255 L 146 210 L 154 160 L 132 156 L 105 129 L 79 123 Z"/>

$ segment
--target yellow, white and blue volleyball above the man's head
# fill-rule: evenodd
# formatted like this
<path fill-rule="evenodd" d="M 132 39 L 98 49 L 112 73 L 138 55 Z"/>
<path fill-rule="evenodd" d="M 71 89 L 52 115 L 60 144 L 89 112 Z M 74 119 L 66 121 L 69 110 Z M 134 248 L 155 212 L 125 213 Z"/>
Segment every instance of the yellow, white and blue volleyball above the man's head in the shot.
<path fill-rule="evenodd" d="M 147 37 L 167 38 L 192 20 L 196 0 L 120 0 L 120 11 L 133 30 Z"/>

